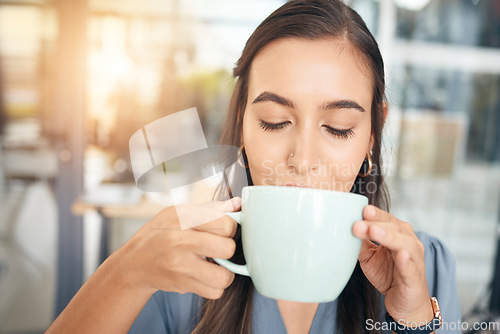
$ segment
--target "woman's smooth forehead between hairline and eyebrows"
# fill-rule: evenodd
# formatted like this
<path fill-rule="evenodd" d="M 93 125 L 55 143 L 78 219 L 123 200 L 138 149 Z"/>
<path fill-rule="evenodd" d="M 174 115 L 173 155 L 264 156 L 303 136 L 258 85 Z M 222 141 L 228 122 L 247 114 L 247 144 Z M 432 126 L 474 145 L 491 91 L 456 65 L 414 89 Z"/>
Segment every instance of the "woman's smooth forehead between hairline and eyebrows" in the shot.
<path fill-rule="evenodd" d="M 266 45 L 250 69 L 249 98 L 254 90 L 284 94 L 328 94 L 371 99 L 371 72 L 352 44 L 339 39 L 283 38 Z"/>

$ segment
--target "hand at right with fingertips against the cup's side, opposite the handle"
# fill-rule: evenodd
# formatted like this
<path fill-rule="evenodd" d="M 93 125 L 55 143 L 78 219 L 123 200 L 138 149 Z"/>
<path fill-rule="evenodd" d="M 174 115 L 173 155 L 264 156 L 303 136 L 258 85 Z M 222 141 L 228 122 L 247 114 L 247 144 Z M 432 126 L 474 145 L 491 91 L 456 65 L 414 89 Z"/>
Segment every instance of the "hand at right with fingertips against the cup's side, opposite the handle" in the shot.
<path fill-rule="evenodd" d="M 409 223 L 373 205 L 364 208 L 363 219 L 352 230 L 363 240 L 358 260 L 366 278 L 385 295 L 396 321 L 427 324 L 433 313 L 423 244 Z"/>

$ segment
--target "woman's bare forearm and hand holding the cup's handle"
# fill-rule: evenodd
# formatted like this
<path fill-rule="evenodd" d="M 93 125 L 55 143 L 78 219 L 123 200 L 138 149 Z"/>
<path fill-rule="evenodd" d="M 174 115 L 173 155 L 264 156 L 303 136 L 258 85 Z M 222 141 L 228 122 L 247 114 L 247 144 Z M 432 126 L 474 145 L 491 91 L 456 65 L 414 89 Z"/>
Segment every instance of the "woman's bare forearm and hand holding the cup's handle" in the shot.
<path fill-rule="evenodd" d="M 210 205 L 238 211 L 241 199 Z M 126 333 L 158 290 L 220 298 L 234 274 L 205 258 L 232 257 L 236 223 L 219 216 L 182 230 L 175 208 L 162 210 L 104 261 L 46 333 Z"/>

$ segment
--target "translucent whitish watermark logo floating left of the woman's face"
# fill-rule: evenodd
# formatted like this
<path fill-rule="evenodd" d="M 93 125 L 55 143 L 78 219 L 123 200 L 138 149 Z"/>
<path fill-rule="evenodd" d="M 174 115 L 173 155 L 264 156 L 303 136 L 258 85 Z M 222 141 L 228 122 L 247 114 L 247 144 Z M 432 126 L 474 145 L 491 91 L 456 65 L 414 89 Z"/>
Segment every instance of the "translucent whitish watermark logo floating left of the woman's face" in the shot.
<path fill-rule="evenodd" d="M 137 130 L 129 141 L 136 185 L 145 192 L 167 193 L 182 229 L 198 226 L 225 213 L 210 201 L 220 184 L 226 198 L 230 184 L 248 185 L 246 171 L 237 162 L 238 148 L 210 147 L 196 108 L 162 117 Z M 196 214 L 193 205 L 197 206 Z"/>

